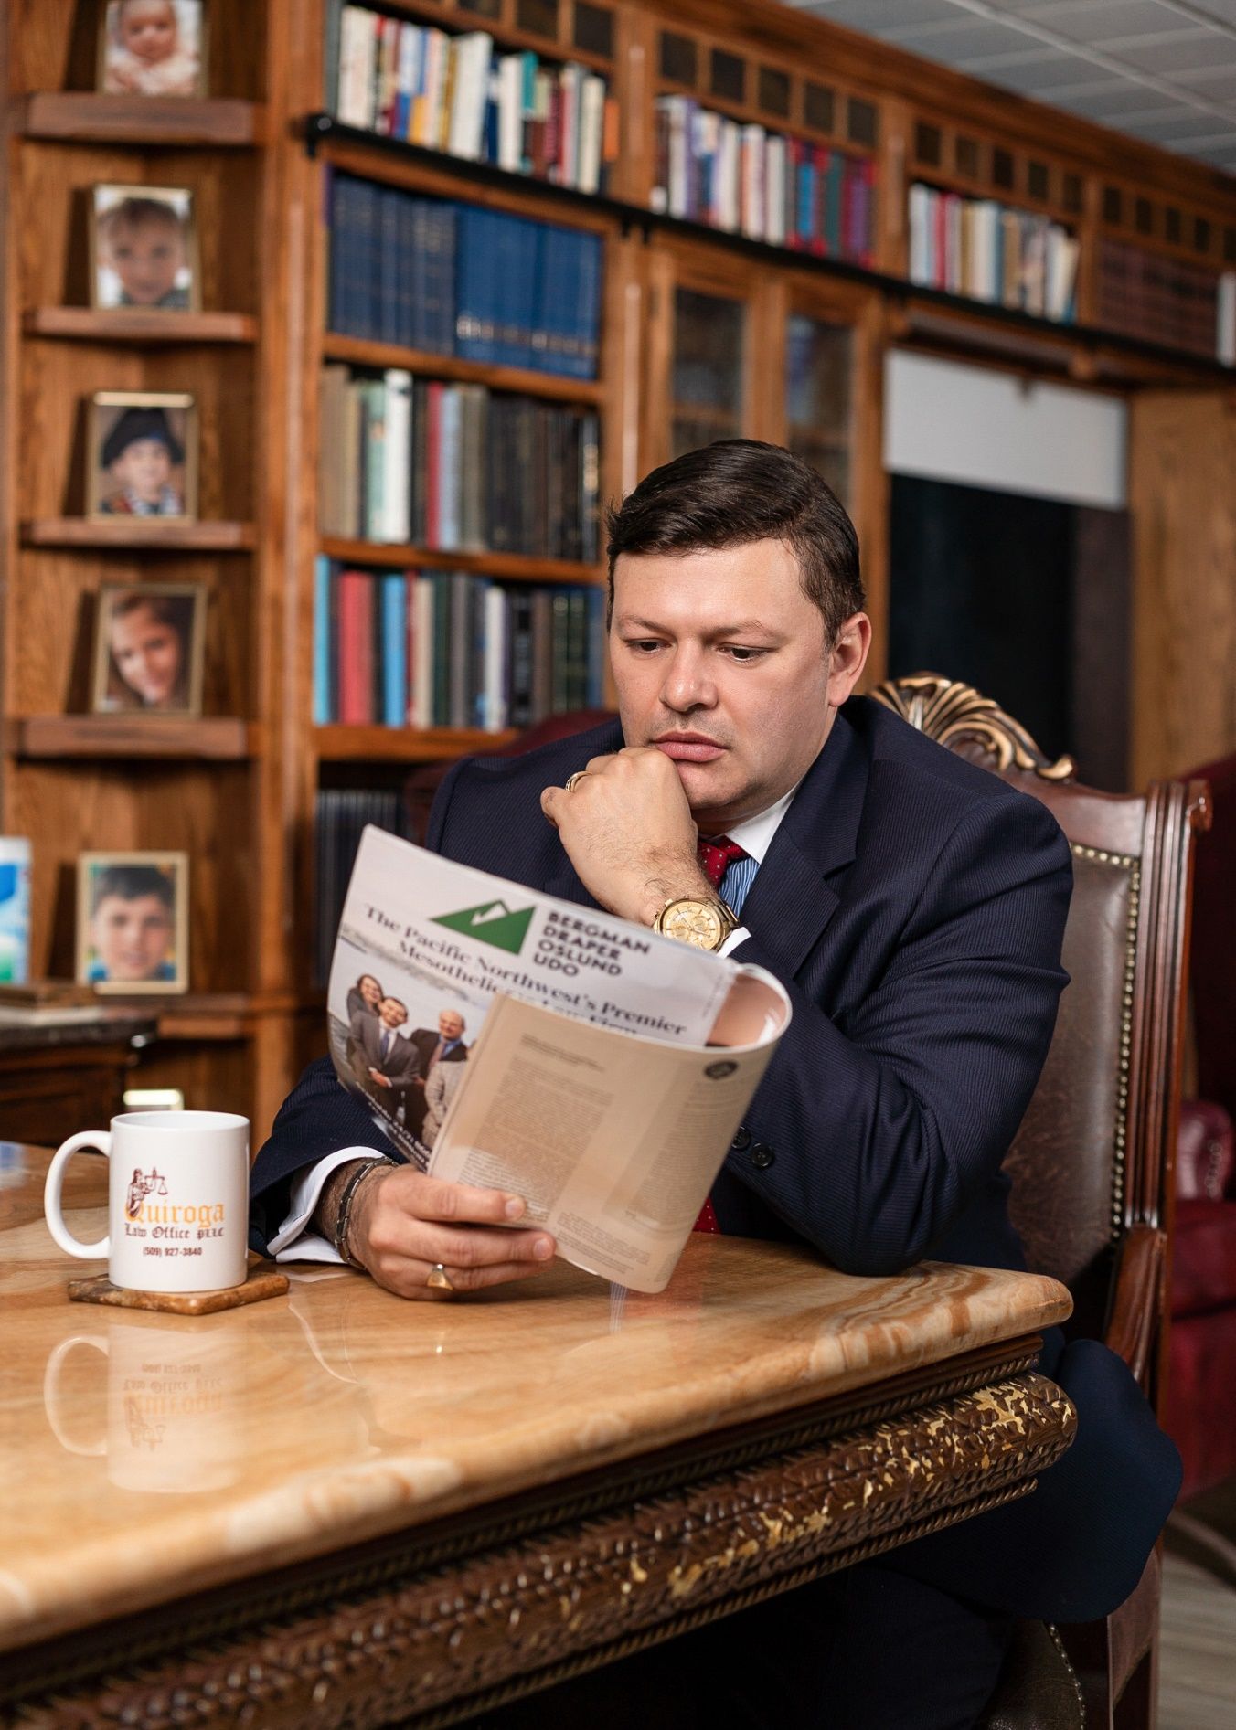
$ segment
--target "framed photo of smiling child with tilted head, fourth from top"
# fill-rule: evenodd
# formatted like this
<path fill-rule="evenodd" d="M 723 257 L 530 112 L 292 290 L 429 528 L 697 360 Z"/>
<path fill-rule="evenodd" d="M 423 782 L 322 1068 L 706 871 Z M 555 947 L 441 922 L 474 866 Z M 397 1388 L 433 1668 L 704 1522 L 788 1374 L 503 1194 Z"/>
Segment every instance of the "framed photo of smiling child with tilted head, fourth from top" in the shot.
<path fill-rule="evenodd" d="M 201 714 L 206 595 L 194 583 L 104 583 L 92 714 Z"/>

